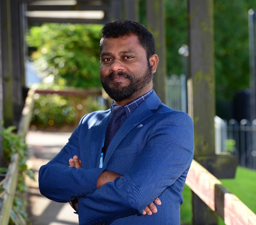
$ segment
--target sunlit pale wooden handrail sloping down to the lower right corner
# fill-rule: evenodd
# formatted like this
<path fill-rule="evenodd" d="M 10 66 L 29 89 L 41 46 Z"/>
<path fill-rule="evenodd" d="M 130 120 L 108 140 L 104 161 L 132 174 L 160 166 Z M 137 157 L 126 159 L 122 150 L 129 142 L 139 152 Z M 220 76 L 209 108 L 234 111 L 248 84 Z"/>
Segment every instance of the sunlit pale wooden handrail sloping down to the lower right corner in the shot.
<path fill-rule="evenodd" d="M 190 166 L 186 184 L 226 225 L 256 225 L 256 214 L 195 160 Z"/>

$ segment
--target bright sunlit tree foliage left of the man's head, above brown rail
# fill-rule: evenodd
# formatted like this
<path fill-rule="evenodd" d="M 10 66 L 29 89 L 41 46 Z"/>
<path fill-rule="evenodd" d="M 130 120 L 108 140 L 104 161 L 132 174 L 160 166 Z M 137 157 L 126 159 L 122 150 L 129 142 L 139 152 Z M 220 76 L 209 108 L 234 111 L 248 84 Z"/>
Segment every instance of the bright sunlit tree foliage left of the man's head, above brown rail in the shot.
<path fill-rule="evenodd" d="M 99 32 L 102 25 L 46 23 L 29 29 L 31 59 L 41 77 L 56 85 L 99 87 Z"/>

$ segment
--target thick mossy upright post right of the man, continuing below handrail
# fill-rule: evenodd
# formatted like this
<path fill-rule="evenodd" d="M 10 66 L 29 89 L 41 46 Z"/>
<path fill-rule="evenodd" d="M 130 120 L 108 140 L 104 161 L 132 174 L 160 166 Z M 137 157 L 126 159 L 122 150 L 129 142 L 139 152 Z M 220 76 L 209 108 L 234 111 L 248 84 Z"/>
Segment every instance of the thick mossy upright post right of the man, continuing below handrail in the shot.
<path fill-rule="evenodd" d="M 188 26 L 188 113 L 194 121 L 194 155 L 196 160 L 215 159 L 213 0 L 188 0 Z M 217 215 L 194 192 L 192 207 L 193 224 L 218 224 Z"/>

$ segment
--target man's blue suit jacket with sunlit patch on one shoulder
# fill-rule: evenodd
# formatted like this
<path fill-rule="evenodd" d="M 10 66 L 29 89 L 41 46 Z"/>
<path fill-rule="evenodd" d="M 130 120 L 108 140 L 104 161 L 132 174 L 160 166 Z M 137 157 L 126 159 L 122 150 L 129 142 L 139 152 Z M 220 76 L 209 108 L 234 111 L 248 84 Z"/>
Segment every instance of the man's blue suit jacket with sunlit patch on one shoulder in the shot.
<path fill-rule="evenodd" d="M 99 168 L 109 118 L 107 110 L 81 119 L 60 153 L 40 168 L 40 192 L 57 202 L 81 197 L 81 225 L 180 224 L 182 190 L 194 151 L 191 118 L 162 104 L 153 92 L 119 128 Z M 82 168 L 69 167 L 74 155 Z M 124 176 L 97 189 L 104 170 Z M 158 212 L 141 215 L 157 196 L 162 201 Z"/>

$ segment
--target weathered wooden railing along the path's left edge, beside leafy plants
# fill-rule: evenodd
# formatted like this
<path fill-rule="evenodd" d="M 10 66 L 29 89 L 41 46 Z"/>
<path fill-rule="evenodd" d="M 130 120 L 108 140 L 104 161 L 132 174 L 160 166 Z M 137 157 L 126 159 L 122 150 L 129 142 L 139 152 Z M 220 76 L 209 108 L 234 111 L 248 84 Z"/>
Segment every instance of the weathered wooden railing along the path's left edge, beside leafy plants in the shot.
<path fill-rule="evenodd" d="M 17 134 L 22 137 L 26 136 L 27 130 L 29 128 L 31 112 L 34 106 L 33 95 L 34 90 L 30 89 L 22 111 L 20 123 L 18 125 Z M 19 157 L 16 153 L 11 157 L 11 163 L 9 164 L 8 171 L 6 173 L 6 180 L 3 184 L 3 188 L 5 189 L 6 193 L 0 198 L 0 225 L 8 225 L 9 223 L 10 213 L 17 187 L 18 172 Z"/>

